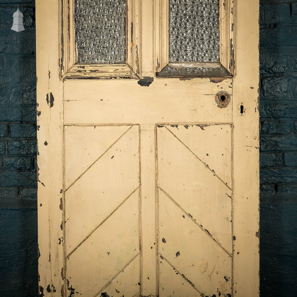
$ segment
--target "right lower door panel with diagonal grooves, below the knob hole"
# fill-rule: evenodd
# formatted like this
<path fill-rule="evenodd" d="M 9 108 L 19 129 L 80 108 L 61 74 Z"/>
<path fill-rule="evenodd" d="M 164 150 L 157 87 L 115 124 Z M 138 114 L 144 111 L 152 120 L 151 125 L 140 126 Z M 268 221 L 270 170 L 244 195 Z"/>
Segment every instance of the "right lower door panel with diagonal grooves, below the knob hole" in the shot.
<path fill-rule="evenodd" d="M 159 297 L 232 296 L 231 135 L 157 126 Z"/>

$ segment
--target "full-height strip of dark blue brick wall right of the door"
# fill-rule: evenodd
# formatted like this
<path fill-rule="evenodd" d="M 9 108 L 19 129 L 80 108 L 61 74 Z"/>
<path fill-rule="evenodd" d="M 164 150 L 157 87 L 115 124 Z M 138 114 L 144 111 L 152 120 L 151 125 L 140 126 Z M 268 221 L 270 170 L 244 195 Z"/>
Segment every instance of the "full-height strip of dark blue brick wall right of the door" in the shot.
<path fill-rule="evenodd" d="M 260 296 L 296 297 L 297 1 L 260 3 Z"/>

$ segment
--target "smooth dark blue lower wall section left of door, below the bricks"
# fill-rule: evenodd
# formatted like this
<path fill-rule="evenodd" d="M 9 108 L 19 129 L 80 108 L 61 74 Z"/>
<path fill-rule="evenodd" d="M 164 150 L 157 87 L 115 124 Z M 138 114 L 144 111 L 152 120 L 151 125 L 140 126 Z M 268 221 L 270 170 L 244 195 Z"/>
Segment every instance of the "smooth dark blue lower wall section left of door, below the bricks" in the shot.
<path fill-rule="evenodd" d="M 1 296 L 37 297 L 37 210 L 0 209 L 0 226 Z"/>

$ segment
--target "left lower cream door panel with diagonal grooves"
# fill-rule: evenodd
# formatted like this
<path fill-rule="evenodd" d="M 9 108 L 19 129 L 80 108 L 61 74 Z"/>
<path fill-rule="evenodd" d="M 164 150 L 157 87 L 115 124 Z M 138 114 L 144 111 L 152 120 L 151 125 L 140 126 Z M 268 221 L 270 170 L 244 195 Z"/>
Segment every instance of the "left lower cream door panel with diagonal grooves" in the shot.
<path fill-rule="evenodd" d="M 66 284 L 75 295 L 140 294 L 139 162 L 138 125 L 65 127 Z"/>

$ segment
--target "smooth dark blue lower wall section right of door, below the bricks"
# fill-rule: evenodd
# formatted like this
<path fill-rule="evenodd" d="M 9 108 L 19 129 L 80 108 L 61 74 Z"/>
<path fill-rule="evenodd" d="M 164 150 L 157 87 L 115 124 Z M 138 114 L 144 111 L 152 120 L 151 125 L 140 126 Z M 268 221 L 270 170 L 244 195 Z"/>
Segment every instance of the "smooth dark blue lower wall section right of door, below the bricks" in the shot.
<path fill-rule="evenodd" d="M 260 205 L 260 296 L 296 297 L 296 203 Z"/>

